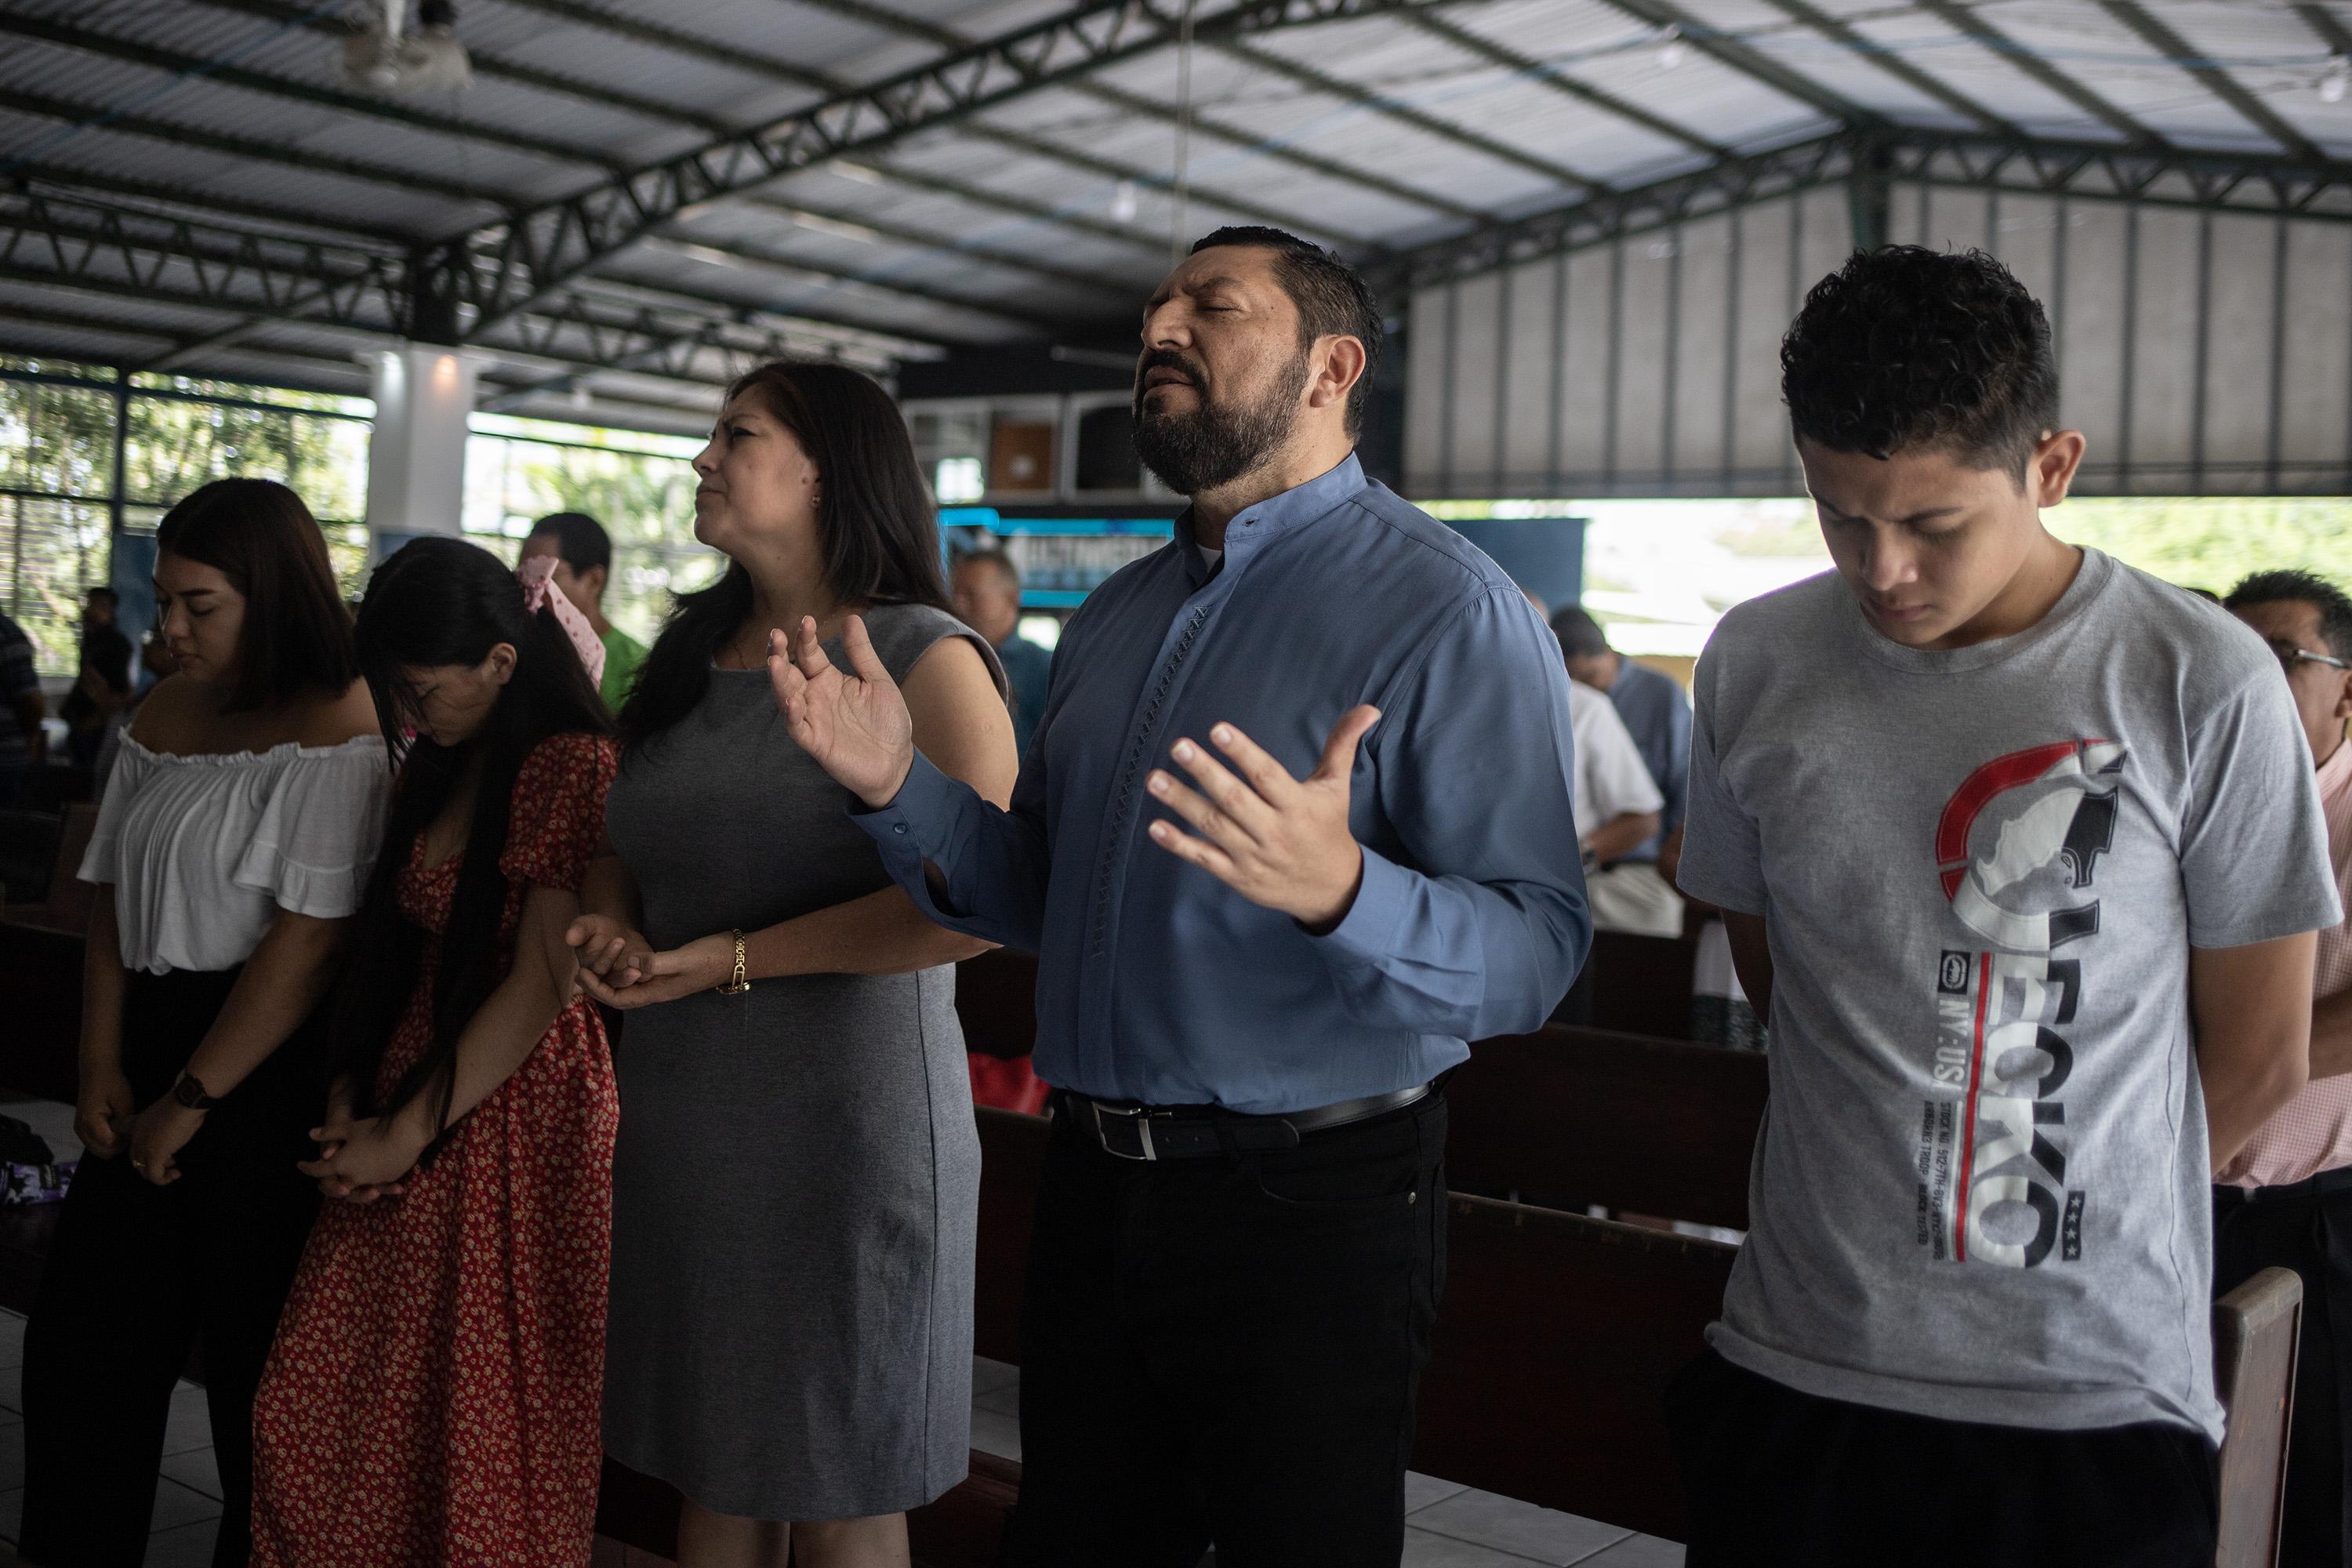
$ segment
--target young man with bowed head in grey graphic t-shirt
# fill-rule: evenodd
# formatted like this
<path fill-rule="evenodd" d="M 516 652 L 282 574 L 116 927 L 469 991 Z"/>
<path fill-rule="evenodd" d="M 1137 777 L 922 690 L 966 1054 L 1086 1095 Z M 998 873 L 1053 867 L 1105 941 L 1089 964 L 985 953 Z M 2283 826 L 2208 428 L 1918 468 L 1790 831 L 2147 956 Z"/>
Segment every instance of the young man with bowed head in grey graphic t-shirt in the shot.
<path fill-rule="evenodd" d="M 2206 1182 L 2338 919 L 2244 625 L 2060 543 L 2084 437 L 1997 261 L 1856 254 L 1783 390 L 1835 574 L 1698 663 L 1682 889 L 1771 1018 L 1689 1568 L 2213 1561 Z"/>

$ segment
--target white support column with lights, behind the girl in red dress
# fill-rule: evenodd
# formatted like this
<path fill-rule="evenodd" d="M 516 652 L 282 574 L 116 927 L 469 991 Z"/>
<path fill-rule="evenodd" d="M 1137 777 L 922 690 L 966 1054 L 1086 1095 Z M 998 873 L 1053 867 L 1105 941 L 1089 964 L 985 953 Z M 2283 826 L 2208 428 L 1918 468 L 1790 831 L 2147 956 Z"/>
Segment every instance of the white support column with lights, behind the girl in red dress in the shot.
<path fill-rule="evenodd" d="M 374 355 L 376 428 L 367 440 L 367 531 L 376 559 L 419 534 L 459 534 L 475 362 L 402 343 Z"/>

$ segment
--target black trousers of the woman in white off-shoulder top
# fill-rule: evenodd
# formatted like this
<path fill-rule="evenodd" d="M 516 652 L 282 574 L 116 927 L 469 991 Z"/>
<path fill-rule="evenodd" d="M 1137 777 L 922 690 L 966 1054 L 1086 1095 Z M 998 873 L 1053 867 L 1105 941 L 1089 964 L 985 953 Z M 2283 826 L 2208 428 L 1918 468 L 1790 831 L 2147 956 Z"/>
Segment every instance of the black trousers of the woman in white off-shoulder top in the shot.
<path fill-rule="evenodd" d="M 134 1103 L 172 1086 L 238 971 L 134 973 L 122 1065 Z M 214 1568 L 252 1554 L 252 1413 L 301 1262 L 318 1190 L 294 1168 L 327 1107 L 318 1023 L 205 1117 L 155 1187 L 129 1157 L 85 1157 L 56 1218 L 24 1335 L 24 1537 L 45 1568 L 136 1568 L 146 1556 L 172 1385 L 202 1349 L 221 1467 Z"/>

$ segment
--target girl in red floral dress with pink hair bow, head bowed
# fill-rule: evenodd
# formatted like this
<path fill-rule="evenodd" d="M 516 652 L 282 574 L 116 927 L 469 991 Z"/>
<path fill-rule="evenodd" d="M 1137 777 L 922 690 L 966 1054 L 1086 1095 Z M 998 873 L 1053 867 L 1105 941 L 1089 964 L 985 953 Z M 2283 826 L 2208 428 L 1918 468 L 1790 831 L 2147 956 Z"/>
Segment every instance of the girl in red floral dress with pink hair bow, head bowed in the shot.
<path fill-rule="evenodd" d="M 256 1566 L 588 1561 L 619 1105 L 564 929 L 616 757 L 543 576 L 421 538 L 360 607 L 414 738 L 303 1166 L 334 1201 L 254 1403 Z"/>

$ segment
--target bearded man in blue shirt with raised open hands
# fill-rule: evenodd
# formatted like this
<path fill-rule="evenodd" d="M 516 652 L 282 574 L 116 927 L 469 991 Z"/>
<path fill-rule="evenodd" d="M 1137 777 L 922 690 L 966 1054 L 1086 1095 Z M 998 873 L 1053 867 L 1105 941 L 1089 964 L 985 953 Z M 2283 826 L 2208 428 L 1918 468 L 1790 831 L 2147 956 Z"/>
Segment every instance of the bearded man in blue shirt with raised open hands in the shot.
<path fill-rule="evenodd" d="M 1381 317 L 1225 228 L 1143 313 L 1176 538 L 1063 632 L 1011 809 L 913 745 L 849 623 L 769 639 L 898 886 L 1030 947 L 1054 1138 L 1021 1328 L 1021 1566 L 1362 1568 L 1404 1547 L 1444 1284 L 1437 1081 L 1590 945 L 1559 644 L 1355 458 Z"/>

